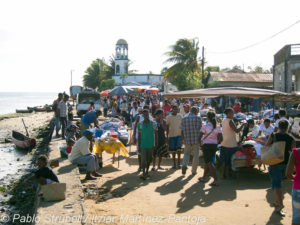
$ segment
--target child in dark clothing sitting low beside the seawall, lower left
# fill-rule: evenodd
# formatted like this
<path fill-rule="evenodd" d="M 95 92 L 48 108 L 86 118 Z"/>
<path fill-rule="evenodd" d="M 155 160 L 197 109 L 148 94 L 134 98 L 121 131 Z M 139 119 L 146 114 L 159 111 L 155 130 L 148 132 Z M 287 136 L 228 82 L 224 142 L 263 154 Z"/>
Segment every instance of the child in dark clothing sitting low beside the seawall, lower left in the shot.
<path fill-rule="evenodd" d="M 59 183 L 55 173 L 47 166 L 48 157 L 41 155 L 37 159 L 37 165 L 39 169 L 29 178 L 24 180 L 24 184 L 27 184 L 29 180 L 36 179 L 40 185 Z"/>

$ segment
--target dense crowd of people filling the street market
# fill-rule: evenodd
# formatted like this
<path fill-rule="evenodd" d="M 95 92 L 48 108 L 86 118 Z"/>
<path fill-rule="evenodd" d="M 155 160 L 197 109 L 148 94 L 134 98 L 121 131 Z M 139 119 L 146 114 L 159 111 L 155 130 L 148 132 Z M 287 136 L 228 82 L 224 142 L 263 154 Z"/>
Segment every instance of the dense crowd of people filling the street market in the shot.
<path fill-rule="evenodd" d="M 67 102 L 68 96 L 59 94 L 53 104 L 56 136 L 59 137 L 61 127 L 61 137 L 66 139 L 68 148 L 71 146 L 68 149 L 69 160 L 74 164 L 86 164 L 86 179 L 94 180 L 102 175 L 98 173 L 99 162 L 93 153 L 93 133 L 89 128 L 92 125 L 99 127 L 98 117 L 102 112 L 95 111 L 91 104 L 88 112 L 81 118 L 80 126 L 76 126 L 68 122 L 70 115 Z M 131 127 L 130 144 L 137 146 L 138 173 L 141 173 L 140 178 L 143 180 L 150 177 L 151 163 L 151 171 L 165 170 L 162 167 L 162 160 L 169 156 L 173 162 L 170 169 L 181 169 L 185 175 L 191 165 L 191 174 L 196 175 L 201 150 L 204 172 L 199 177 L 199 182 L 208 182 L 213 178 L 209 185 L 219 186 L 220 178 L 232 178 L 231 158 L 245 138 L 255 138 L 265 146 L 278 141 L 285 142 L 284 160 L 269 166 L 275 196 L 274 206 L 276 212 L 284 216 L 282 181 L 285 175 L 288 179 L 294 179 L 293 221 L 295 224 L 300 223 L 300 151 L 295 148 L 296 144 L 299 144 L 295 139 L 300 137 L 299 134 L 292 132 L 293 124 L 287 119 L 285 110 L 279 110 L 276 121 L 265 118 L 258 124 L 257 121 L 250 119 L 237 125 L 234 117 L 240 110 L 238 104 L 224 111 L 225 118 L 218 118 L 215 109 L 207 102 L 163 99 L 161 95 L 151 94 L 105 97 L 102 99 L 102 109 L 104 117 L 118 118 Z M 205 115 L 201 113 L 203 111 Z M 239 136 L 240 133 L 242 135 Z M 221 177 L 218 177 L 216 169 L 218 149 L 220 149 Z M 293 174 L 294 167 L 296 175 Z M 39 174 L 35 177 L 38 178 Z M 51 173 L 43 183 L 48 183 L 47 179 L 58 182 Z"/>

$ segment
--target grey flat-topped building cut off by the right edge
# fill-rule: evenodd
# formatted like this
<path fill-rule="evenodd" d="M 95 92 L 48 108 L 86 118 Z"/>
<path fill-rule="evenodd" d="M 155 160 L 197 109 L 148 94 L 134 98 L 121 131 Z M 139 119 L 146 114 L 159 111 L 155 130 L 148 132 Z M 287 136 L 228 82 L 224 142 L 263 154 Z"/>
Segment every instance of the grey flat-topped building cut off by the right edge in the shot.
<path fill-rule="evenodd" d="M 274 55 L 274 90 L 300 91 L 300 44 L 286 45 Z"/>

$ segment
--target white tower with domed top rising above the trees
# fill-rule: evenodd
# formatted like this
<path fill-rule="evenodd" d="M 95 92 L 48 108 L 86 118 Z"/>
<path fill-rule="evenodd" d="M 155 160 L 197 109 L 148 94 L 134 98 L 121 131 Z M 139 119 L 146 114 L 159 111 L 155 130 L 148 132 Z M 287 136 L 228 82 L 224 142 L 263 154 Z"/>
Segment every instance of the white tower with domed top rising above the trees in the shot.
<path fill-rule="evenodd" d="M 119 39 L 116 44 L 115 75 L 128 74 L 128 44 L 124 39 Z"/>

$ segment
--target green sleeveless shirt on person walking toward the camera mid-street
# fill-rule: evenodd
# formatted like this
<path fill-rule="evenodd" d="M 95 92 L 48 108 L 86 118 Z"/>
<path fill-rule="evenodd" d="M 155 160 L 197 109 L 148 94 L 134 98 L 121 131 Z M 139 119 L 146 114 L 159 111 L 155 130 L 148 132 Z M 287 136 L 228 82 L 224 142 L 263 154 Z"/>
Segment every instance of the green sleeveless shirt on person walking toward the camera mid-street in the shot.
<path fill-rule="evenodd" d="M 157 125 L 153 121 L 149 121 L 145 124 L 144 121 L 138 124 L 138 132 L 141 133 L 141 148 L 153 148 L 155 140 L 155 131 L 157 130 Z"/>

